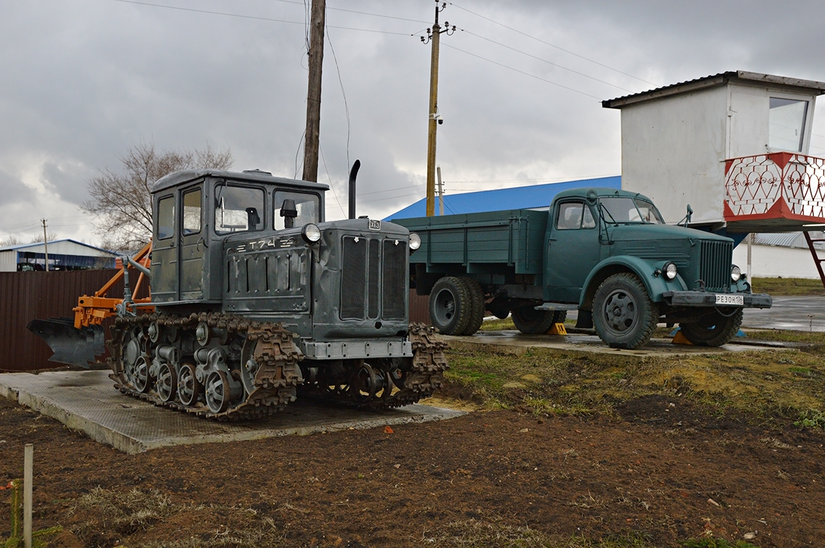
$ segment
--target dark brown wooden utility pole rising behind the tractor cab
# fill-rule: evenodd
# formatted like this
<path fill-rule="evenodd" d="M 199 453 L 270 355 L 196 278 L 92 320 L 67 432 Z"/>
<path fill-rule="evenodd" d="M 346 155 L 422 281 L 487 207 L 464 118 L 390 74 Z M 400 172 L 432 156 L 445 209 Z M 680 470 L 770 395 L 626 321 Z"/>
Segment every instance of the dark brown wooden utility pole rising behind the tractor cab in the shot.
<path fill-rule="evenodd" d="M 318 181 L 318 136 L 321 126 L 321 68 L 326 0 L 313 0 L 309 23 L 309 87 L 307 128 L 304 133 L 304 180 Z"/>

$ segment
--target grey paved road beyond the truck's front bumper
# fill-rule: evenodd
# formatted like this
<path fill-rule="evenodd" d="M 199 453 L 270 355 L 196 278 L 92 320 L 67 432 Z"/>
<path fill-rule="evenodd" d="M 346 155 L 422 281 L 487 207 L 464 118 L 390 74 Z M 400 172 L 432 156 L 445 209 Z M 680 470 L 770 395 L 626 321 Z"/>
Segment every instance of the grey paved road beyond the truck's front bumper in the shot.
<path fill-rule="evenodd" d="M 746 308 L 743 327 L 825 331 L 825 297 L 773 297 L 773 307 Z"/>

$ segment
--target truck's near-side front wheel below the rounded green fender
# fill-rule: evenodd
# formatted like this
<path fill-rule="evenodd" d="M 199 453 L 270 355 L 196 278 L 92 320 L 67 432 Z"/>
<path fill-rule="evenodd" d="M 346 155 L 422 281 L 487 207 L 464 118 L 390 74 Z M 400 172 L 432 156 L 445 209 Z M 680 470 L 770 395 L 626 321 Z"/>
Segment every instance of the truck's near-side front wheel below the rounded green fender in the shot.
<path fill-rule="evenodd" d="M 613 274 L 596 289 L 593 324 L 611 348 L 632 350 L 648 344 L 658 319 L 658 305 L 635 274 Z"/>

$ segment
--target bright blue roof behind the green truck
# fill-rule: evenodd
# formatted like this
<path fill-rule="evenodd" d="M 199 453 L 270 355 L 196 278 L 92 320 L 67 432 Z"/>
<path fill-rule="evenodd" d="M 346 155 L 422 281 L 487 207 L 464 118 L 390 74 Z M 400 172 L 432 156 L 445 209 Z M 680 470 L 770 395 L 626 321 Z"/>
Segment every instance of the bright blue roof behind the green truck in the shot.
<path fill-rule="evenodd" d="M 479 213 L 483 211 L 502 211 L 504 209 L 546 208 L 553 201 L 553 197 L 562 190 L 580 189 L 594 186 L 621 190 L 621 176 L 599 177 L 597 179 L 568 180 L 562 183 L 548 183 L 546 185 L 516 186 L 510 189 L 481 190 L 464 194 L 450 194 L 444 197 L 444 214 Z M 436 197 L 436 213 L 439 210 Z M 427 199 L 422 198 L 415 204 L 409 205 L 384 218 L 403 219 L 425 217 L 427 215 Z"/>

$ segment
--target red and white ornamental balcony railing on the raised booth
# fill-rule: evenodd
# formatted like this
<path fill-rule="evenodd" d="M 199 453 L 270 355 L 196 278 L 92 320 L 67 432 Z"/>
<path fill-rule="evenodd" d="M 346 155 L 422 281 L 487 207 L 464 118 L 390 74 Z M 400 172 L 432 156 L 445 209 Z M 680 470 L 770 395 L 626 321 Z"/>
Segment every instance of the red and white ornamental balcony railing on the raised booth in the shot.
<path fill-rule="evenodd" d="M 772 152 L 725 160 L 725 218 L 825 220 L 825 159 Z"/>

